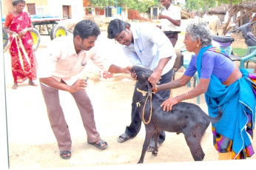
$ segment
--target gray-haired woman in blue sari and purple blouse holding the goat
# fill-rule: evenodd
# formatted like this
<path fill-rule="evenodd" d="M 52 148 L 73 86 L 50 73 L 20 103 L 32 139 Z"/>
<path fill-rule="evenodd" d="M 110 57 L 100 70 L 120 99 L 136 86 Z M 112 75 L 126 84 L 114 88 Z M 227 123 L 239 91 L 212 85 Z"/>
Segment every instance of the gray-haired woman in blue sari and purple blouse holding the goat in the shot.
<path fill-rule="evenodd" d="M 209 115 L 224 111 L 218 123 L 212 124 L 215 149 L 219 160 L 245 159 L 254 154 L 249 135 L 255 126 L 255 95 L 246 80 L 246 69 L 238 69 L 223 50 L 212 47 L 212 36 L 205 22 L 191 23 L 186 28 L 186 50 L 195 52 L 181 78 L 155 87 L 155 92 L 175 89 L 186 83 L 198 71 L 200 82 L 194 89 L 169 98 L 161 106 L 164 110 L 189 98 L 205 93 Z"/>

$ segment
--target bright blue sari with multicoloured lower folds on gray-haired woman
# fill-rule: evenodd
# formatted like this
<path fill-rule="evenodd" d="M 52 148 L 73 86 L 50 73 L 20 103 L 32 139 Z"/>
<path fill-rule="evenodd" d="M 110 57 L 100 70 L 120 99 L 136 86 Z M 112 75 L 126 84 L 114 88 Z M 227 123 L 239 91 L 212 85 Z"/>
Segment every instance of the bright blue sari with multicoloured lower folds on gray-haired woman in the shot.
<path fill-rule="evenodd" d="M 216 47 L 201 48 L 197 57 L 198 76 L 201 77 L 201 61 L 206 50 L 222 53 Z M 224 55 L 223 55 L 224 57 Z M 246 80 L 248 71 L 240 69 L 243 77 L 226 86 L 211 76 L 205 93 L 209 115 L 218 115 L 218 106 L 224 111 L 221 120 L 212 124 L 215 149 L 218 152 L 232 152 L 232 159 L 246 159 L 254 154 L 249 135 L 255 128 L 255 95 L 252 84 Z"/>

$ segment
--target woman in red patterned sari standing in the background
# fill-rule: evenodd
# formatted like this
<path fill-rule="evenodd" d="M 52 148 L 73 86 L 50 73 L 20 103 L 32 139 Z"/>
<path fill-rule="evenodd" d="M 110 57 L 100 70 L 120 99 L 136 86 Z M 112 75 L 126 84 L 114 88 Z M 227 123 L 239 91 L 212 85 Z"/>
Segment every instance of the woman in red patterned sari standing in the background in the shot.
<path fill-rule="evenodd" d="M 36 56 L 30 33 L 33 31 L 33 24 L 29 14 L 23 12 L 26 1 L 13 0 L 12 4 L 14 11 L 6 16 L 4 22 L 4 32 L 10 34 L 10 56 L 14 81 L 12 88 L 17 89 L 18 83 L 26 81 L 27 78 L 29 78 L 29 85 L 37 86 L 33 82 L 36 80 Z M 24 47 L 24 51 L 21 46 Z M 27 58 L 24 52 L 27 53 Z"/>

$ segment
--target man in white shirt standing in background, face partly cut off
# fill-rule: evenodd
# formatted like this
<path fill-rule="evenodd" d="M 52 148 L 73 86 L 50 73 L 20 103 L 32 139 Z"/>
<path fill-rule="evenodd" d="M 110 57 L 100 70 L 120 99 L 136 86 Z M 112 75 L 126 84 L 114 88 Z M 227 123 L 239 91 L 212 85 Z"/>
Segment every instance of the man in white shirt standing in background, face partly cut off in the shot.
<path fill-rule="evenodd" d="M 161 4 L 165 7 L 161 15 L 158 16 L 161 22 L 162 31 L 172 42 L 175 47 L 178 41 L 178 33 L 181 33 L 179 27 L 181 26 L 181 9 L 172 4 L 172 0 L 160 0 Z"/>

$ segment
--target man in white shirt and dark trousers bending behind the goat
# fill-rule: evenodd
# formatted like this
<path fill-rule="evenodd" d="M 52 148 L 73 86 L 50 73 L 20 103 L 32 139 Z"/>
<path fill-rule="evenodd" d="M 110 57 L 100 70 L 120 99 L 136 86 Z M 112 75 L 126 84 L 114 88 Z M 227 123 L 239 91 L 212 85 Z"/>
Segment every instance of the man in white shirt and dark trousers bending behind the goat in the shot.
<path fill-rule="evenodd" d="M 120 19 L 110 21 L 107 28 L 107 37 L 115 39 L 122 44 L 124 54 L 127 55 L 129 61 L 135 66 L 151 69 L 152 75 L 149 82 L 152 86 L 156 84 L 164 84 L 172 81 L 172 67 L 175 63 L 175 50 L 169 39 L 164 33 L 149 23 L 129 24 Z M 135 85 L 135 90 L 137 84 Z M 161 98 L 169 98 L 170 90 L 158 93 Z M 141 118 L 135 101 L 132 99 L 132 122 L 124 134 L 118 137 L 118 141 L 123 143 L 131 137 L 135 137 L 141 129 Z M 158 143 L 163 143 L 165 133 L 161 132 Z M 151 140 L 148 151 L 154 148 L 154 141 Z"/>

